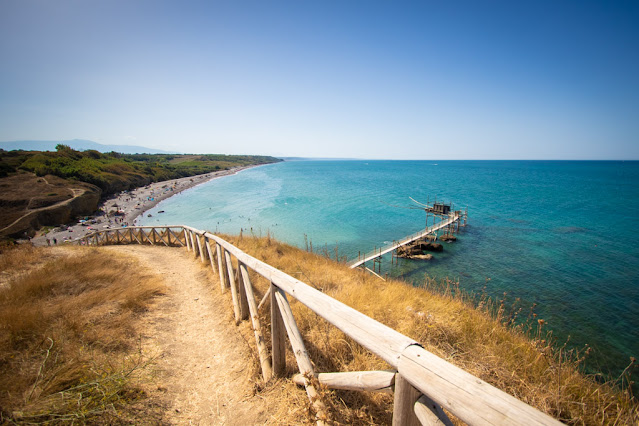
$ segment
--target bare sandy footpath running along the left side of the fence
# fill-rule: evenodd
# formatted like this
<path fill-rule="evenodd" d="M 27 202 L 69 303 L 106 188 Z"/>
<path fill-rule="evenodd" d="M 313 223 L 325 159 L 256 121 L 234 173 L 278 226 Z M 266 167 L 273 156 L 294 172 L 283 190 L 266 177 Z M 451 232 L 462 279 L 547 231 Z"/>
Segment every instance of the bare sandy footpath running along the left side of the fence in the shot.
<path fill-rule="evenodd" d="M 165 277 L 169 288 L 145 316 L 146 351 L 161 353 L 158 391 L 173 424 L 263 424 L 269 415 L 253 395 L 251 353 L 232 321 L 226 294 L 193 260 L 168 247 L 110 246 Z"/>

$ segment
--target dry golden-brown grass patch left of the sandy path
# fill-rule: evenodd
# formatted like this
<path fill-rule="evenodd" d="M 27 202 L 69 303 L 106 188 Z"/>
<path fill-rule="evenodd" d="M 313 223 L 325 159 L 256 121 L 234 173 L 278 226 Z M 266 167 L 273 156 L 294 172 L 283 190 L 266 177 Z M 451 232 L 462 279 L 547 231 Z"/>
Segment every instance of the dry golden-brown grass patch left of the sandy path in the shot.
<path fill-rule="evenodd" d="M 0 423 L 131 421 L 149 362 L 134 320 L 162 285 L 99 249 L 5 248 L 0 265 Z"/>

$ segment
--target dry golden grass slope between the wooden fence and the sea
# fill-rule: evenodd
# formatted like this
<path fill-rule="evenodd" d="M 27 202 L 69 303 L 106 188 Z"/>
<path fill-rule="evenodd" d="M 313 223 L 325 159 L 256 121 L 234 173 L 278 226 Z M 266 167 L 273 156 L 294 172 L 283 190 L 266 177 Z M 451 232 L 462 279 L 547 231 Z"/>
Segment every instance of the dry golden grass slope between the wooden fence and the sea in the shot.
<path fill-rule="evenodd" d="M 583 351 L 553 347 L 543 329 L 543 320 L 539 321 L 532 312 L 528 327 L 516 326 L 512 319 L 519 314 L 517 309 L 510 312 L 504 303 L 488 300 L 482 300 L 478 309 L 455 291 L 454 283 L 427 280 L 424 285 L 427 288 L 415 288 L 400 281 L 384 282 L 268 237 L 223 238 L 563 422 L 593 425 L 639 422 L 639 405 L 628 387 L 619 386 L 621 382 L 601 383 L 584 374 L 580 367 Z M 257 287 L 256 297 L 261 297 L 268 282 L 255 274 L 252 281 Z M 290 297 L 289 301 L 316 372 L 388 368 L 303 305 Z M 262 324 L 269 324 L 268 311 L 262 310 Z M 270 336 L 266 337 L 270 342 Z M 297 372 L 290 351 L 287 366 L 289 376 Z M 626 384 L 628 380 L 626 377 Z M 285 389 L 283 405 L 306 398 L 302 390 L 296 392 L 290 385 Z M 389 395 L 323 389 L 322 398 L 336 422 L 363 425 L 391 421 Z M 305 418 L 293 420 L 283 416 L 282 422 L 312 419 L 309 413 L 304 414 Z"/>

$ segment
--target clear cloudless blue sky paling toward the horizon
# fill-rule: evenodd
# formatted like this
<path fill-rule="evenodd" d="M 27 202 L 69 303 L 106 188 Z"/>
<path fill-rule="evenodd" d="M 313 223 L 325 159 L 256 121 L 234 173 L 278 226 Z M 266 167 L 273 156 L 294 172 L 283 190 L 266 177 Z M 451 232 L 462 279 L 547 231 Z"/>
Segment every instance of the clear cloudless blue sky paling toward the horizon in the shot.
<path fill-rule="evenodd" d="M 637 1 L 0 0 L 0 141 L 639 159 Z"/>

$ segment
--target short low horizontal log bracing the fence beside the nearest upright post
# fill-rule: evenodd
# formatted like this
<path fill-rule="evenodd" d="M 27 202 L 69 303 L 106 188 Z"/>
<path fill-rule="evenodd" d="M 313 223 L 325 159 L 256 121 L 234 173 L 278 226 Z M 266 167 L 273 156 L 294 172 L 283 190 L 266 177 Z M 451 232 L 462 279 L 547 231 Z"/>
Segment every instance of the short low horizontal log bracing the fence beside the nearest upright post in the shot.
<path fill-rule="evenodd" d="M 395 373 L 392 370 L 319 373 L 317 380 L 329 389 L 393 393 Z M 301 374 L 293 376 L 293 381 L 301 386 L 306 383 Z"/>

